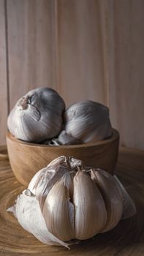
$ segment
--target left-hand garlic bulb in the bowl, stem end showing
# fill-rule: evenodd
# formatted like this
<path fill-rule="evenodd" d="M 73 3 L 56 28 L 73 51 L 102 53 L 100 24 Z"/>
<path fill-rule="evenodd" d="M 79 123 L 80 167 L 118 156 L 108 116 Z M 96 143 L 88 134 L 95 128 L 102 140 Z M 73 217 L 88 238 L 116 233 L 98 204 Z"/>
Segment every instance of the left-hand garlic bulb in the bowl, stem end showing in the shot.
<path fill-rule="evenodd" d="M 40 142 L 57 136 L 62 129 L 64 100 L 50 88 L 29 91 L 8 116 L 7 126 L 20 140 Z"/>

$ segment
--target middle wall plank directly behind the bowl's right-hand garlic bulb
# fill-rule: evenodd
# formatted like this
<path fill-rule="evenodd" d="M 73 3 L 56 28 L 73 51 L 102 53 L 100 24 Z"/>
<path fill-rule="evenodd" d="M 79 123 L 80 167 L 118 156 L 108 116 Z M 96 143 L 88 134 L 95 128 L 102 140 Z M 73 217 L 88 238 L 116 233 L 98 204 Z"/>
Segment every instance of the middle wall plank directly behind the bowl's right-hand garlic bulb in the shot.
<path fill-rule="evenodd" d="M 67 105 L 82 99 L 107 104 L 105 1 L 58 0 L 59 86 Z"/>

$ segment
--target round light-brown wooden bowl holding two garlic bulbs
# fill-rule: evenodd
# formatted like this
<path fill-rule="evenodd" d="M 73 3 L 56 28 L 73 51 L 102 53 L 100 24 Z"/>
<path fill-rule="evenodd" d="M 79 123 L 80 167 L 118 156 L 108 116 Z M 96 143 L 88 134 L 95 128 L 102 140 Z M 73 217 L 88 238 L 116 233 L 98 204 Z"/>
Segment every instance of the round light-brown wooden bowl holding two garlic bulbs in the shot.
<path fill-rule="evenodd" d="M 38 170 L 46 167 L 53 159 L 73 156 L 91 167 L 99 167 L 113 173 L 118 159 L 118 131 L 113 129 L 113 135 L 95 143 L 71 146 L 46 146 L 37 143 L 27 143 L 18 140 L 7 132 L 7 149 L 10 165 L 15 177 L 21 184 L 27 186 Z"/>

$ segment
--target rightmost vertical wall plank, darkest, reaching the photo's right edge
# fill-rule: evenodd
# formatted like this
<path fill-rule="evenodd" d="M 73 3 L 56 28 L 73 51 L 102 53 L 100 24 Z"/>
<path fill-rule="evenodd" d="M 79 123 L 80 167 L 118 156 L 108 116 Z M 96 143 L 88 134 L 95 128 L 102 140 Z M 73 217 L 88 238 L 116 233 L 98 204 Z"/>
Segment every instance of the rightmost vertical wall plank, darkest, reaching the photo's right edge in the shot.
<path fill-rule="evenodd" d="M 109 1 L 110 113 L 124 146 L 144 149 L 144 1 Z"/>

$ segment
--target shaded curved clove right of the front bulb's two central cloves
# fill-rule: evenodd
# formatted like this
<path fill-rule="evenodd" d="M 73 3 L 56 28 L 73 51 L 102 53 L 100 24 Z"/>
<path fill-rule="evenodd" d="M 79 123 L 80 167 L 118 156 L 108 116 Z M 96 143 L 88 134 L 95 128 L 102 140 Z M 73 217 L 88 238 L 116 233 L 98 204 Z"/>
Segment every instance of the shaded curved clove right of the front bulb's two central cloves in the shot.
<path fill-rule="evenodd" d="M 91 170 L 91 178 L 99 187 L 107 208 L 107 222 L 101 233 L 113 229 L 121 219 L 123 213 L 123 196 L 115 178 L 104 170 Z"/>

